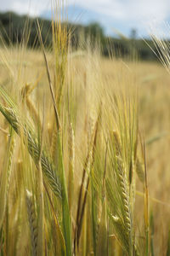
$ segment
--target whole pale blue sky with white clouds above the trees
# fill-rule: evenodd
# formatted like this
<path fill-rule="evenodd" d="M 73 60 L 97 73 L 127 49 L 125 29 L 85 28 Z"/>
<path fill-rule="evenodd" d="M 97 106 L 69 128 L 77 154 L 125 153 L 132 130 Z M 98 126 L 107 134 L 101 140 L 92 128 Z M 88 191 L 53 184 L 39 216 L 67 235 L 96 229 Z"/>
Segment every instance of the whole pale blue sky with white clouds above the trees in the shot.
<path fill-rule="evenodd" d="M 51 16 L 51 0 L 0 1 L 0 11 L 13 10 L 19 14 L 46 18 Z M 71 21 L 83 24 L 97 21 L 107 34 L 118 31 L 129 36 L 134 28 L 141 38 L 150 32 L 168 37 L 169 0 L 66 0 L 66 3 Z"/>

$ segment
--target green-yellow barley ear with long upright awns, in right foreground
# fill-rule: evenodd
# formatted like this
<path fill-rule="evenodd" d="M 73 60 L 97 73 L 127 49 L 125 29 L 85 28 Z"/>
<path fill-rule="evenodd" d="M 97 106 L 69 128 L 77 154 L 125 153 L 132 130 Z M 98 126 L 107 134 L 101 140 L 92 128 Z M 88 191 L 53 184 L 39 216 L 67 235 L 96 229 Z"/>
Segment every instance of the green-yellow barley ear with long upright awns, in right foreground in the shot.
<path fill-rule="evenodd" d="M 124 253 L 133 255 L 134 241 L 134 193 L 133 161 L 137 137 L 136 112 L 126 96 L 117 96 L 117 108 L 113 110 L 116 131 L 109 133 L 108 163 L 105 178 L 107 209 L 116 239 Z M 110 131 L 111 120 L 108 122 Z"/>

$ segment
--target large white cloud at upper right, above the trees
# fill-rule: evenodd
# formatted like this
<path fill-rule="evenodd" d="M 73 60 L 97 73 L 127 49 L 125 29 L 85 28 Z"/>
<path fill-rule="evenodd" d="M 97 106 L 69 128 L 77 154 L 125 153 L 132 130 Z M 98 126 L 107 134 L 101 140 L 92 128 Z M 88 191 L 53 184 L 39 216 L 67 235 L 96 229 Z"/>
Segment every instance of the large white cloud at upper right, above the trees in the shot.
<path fill-rule="evenodd" d="M 68 0 L 83 8 L 107 15 L 113 23 L 124 23 L 139 31 L 150 32 L 163 29 L 164 21 L 170 20 L 169 0 Z"/>

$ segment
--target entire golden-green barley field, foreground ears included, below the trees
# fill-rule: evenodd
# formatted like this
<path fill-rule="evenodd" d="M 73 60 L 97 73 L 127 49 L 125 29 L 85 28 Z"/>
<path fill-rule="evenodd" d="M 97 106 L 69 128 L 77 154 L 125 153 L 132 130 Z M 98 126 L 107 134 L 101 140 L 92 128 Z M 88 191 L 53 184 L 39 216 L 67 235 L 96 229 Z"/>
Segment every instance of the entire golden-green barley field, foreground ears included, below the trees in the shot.
<path fill-rule="evenodd" d="M 168 70 L 57 28 L 0 49 L 0 255 L 170 255 Z"/>

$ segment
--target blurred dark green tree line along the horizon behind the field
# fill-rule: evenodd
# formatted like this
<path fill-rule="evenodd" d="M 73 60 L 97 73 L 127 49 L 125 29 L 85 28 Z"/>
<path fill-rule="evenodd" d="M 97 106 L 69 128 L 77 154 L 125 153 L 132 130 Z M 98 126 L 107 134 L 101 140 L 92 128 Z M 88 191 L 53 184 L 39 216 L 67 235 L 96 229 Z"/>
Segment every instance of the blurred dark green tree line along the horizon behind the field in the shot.
<path fill-rule="evenodd" d="M 52 47 L 52 22 L 38 18 L 42 27 L 42 41 L 45 47 Z M 65 26 L 65 23 L 62 24 Z M 149 39 L 135 38 L 135 32 L 132 31 L 131 38 L 119 36 L 113 38 L 105 36 L 104 29 L 98 23 L 92 23 L 88 26 L 80 24 L 67 23 L 68 31 L 71 31 L 71 47 L 78 49 L 80 45 L 83 48 L 90 46 L 95 47 L 99 43 L 103 55 L 116 55 L 122 57 L 134 57 L 144 61 L 155 61 L 157 56 L 156 47 Z M 17 15 L 13 12 L 0 13 L 0 35 L 1 44 L 18 44 L 23 40 L 31 48 L 40 46 L 37 36 L 37 19 L 27 15 Z M 2 39 L 3 38 L 3 39 Z M 89 40 L 90 38 L 90 40 Z M 148 46 L 150 45 L 150 47 Z"/>

